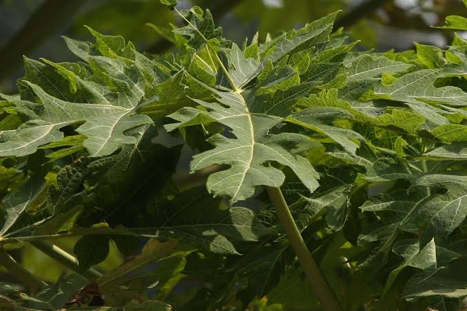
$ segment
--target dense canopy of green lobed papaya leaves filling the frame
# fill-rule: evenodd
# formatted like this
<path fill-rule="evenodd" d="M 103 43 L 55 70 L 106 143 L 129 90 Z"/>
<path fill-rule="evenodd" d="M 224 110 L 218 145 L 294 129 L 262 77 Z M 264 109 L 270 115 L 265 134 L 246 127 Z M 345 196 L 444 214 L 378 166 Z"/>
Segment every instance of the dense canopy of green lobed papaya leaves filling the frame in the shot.
<path fill-rule="evenodd" d="M 459 310 L 467 41 L 359 52 L 336 12 L 238 46 L 178 14 L 174 54 L 89 28 L 65 38 L 79 61 L 25 58 L 1 95 L 1 252 L 72 241 L 78 261 L 0 284 L 2 310 L 320 310 L 265 187 L 344 310 Z"/>

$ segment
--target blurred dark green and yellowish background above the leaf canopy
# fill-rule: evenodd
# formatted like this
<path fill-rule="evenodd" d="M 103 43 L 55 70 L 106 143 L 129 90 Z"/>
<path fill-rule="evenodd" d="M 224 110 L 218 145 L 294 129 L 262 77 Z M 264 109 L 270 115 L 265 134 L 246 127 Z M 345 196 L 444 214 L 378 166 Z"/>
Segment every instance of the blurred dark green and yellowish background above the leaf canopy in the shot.
<path fill-rule="evenodd" d="M 336 28 L 344 27 L 353 39 L 361 40 L 361 50 L 379 51 L 411 49 L 414 41 L 446 47 L 453 32 L 430 26 L 465 12 L 461 0 L 180 0 L 178 8 L 193 5 L 209 8 L 227 38 L 238 43 L 257 30 L 264 38 L 267 32 L 278 34 L 342 10 Z M 16 79 L 23 74 L 23 55 L 74 60 L 61 36 L 90 39 L 83 25 L 121 34 L 141 51 L 171 49 L 146 23 L 165 26 L 181 21 L 159 0 L 0 0 L 0 92 L 15 92 Z"/>

